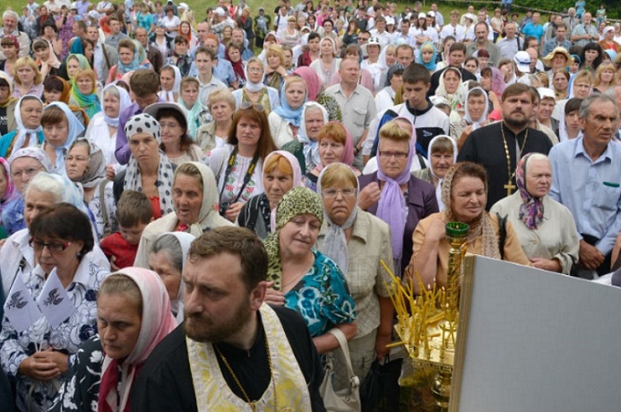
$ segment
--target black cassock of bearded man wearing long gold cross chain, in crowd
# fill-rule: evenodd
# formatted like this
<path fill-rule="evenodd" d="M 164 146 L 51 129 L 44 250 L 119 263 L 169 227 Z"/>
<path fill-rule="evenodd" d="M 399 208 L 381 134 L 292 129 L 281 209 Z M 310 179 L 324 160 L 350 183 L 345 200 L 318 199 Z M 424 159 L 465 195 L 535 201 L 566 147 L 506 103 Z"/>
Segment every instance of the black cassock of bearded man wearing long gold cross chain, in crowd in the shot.
<path fill-rule="evenodd" d="M 501 127 L 502 130 L 500 130 Z M 510 168 L 507 164 L 502 132 L 507 140 Z M 458 162 L 474 162 L 481 164 L 487 170 L 488 205 L 486 209 L 489 210 L 496 202 L 507 196 L 505 185 L 509 180 L 514 186 L 511 193 L 517 190 L 515 167 L 521 156 L 532 152 L 547 155 L 550 149 L 552 149 L 552 142 L 544 132 L 529 127 L 516 136 L 502 121 L 497 121 L 470 133 L 468 140 L 459 151 Z"/>

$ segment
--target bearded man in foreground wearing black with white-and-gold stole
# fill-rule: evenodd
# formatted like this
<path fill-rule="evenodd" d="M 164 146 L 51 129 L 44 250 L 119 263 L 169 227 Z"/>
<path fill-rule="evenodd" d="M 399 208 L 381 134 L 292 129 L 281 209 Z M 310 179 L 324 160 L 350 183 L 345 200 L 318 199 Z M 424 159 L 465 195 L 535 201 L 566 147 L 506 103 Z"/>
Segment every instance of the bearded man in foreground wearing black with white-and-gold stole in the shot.
<path fill-rule="evenodd" d="M 322 411 L 323 369 L 297 312 L 264 303 L 268 254 L 240 227 L 195 239 L 184 267 L 184 323 L 147 359 L 132 411 Z"/>

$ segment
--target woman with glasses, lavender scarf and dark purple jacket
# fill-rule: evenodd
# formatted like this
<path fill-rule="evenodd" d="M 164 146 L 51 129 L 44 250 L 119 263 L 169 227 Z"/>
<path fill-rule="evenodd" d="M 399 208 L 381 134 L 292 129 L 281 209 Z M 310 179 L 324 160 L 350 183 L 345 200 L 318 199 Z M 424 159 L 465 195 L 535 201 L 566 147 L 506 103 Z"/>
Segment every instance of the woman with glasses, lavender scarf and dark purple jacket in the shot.
<path fill-rule="evenodd" d="M 396 122 L 379 132 L 379 169 L 360 177 L 358 206 L 390 226 L 395 273 L 402 274 L 412 256 L 412 233 L 418 221 L 438 211 L 435 189 L 410 173 L 416 140 Z M 402 265 L 403 263 L 403 265 Z"/>

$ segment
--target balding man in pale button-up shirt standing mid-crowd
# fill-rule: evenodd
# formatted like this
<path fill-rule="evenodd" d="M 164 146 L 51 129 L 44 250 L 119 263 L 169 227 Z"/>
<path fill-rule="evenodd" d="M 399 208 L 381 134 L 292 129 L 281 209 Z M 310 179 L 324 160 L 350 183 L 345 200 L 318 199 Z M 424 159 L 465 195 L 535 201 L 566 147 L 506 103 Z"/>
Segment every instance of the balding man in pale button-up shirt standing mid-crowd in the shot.
<path fill-rule="evenodd" d="M 360 63 L 355 58 L 343 58 L 339 66 L 341 82 L 326 90 L 339 103 L 342 112 L 342 123 L 352 133 L 355 158 L 353 165 L 363 167 L 361 151 L 369 132 L 369 125 L 377 114 L 375 100 L 371 91 L 359 84 Z"/>

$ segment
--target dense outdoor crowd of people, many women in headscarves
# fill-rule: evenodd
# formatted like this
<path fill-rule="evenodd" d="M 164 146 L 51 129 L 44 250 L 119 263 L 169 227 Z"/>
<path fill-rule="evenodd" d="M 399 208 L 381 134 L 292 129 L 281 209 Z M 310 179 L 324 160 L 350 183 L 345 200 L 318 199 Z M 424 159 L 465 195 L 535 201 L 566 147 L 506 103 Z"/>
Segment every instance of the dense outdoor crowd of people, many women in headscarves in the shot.
<path fill-rule="evenodd" d="M 385 284 L 445 286 L 450 221 L 614 284 L 621 26 L 510 6 L 6 10 L 0 411 L 324 410 L 334 330 L 398 410 Z"/>

